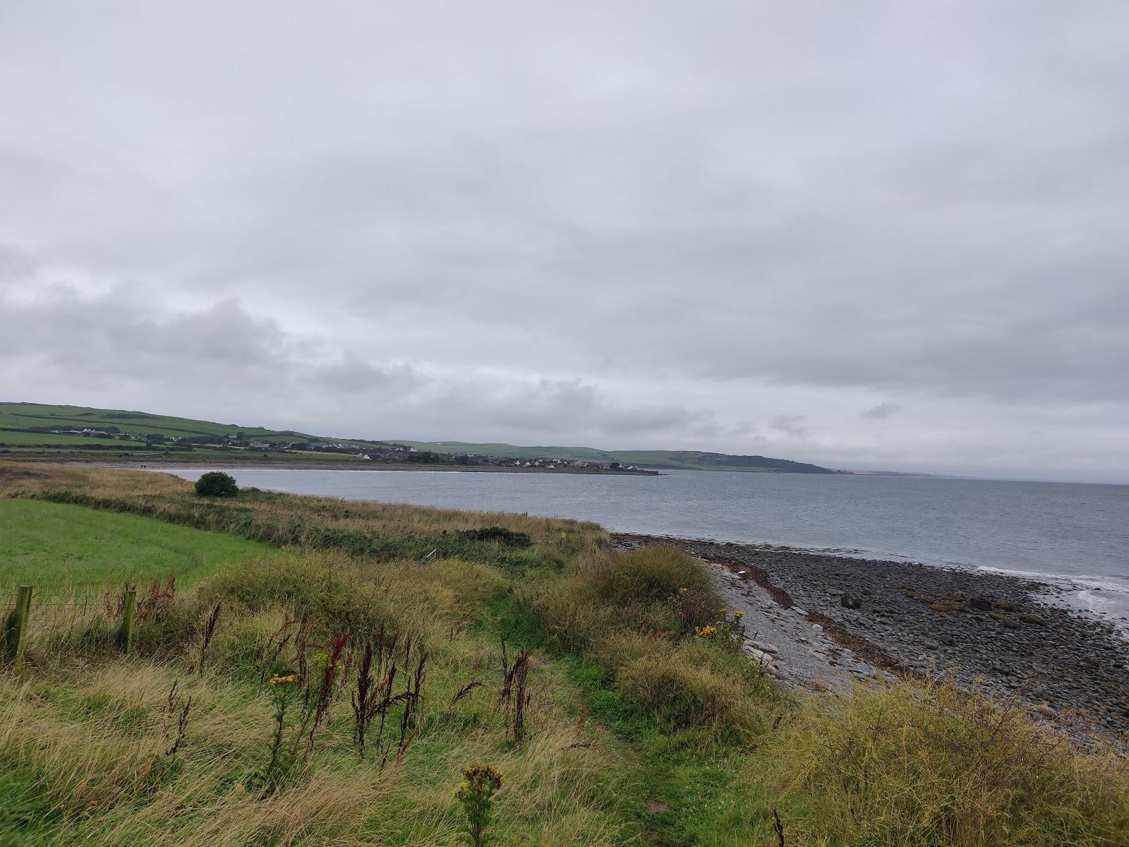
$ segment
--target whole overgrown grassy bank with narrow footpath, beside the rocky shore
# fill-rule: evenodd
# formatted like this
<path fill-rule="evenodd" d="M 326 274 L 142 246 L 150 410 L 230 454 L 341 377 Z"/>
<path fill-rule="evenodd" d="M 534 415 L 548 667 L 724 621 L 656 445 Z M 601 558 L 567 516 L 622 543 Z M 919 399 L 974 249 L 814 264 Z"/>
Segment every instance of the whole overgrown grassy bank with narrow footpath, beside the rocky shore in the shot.
<path fill-rule="evenodd" d="M 1129 842 L 1123 760 L 942 683 L 784 691 L 693 560 L 593 524 L 21 464 L 0 498 L 218 551 L 128 657 L 112 604 L 33 615 L 0 844 L 455 845 L 475 761 L 496 844 Z"/>

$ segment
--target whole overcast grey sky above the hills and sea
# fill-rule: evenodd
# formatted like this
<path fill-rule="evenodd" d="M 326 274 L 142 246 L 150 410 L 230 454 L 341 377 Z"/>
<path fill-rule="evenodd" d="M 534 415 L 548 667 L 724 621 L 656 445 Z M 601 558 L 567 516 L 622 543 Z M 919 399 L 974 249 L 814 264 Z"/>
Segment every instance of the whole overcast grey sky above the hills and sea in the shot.
<path fill-rule="evenodd" d="M 1129 483 L 1129 7 L 8 0 L 0 400 Z"/>

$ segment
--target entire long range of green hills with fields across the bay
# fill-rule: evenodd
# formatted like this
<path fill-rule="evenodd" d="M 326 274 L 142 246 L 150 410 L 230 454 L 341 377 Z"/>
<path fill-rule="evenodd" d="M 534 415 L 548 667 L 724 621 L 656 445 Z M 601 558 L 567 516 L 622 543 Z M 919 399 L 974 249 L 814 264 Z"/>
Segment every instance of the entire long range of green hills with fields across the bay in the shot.
<path fill-rule="evenodd" d="M 55 431 L 50 431 L 55 430 Z M 81 435 L 82 430 L 88 430 Z M 94 430 L 97 435 L 93 435 Z M 732 456 L 725 453 L 698 451 L 625 449 L 604 451 L 594 447 L 519 447 L 513 444 L 476 444 L 470 442 L 411 442 L 401 439 L 373 440 L 297 433 L 291 429 L 265 429 L 239 424 L 217 424 L 168 414 L 95 409 L 81 405 L 0 402 L 0 445 L 9 452 L 54 448 L 87 451 L 133 449 L 119 440 L 121 436 L 154 436 L 172 439 L 238 438 L 263 445 L 286 446 L 294 442 L 332 442 L 365 449 L 383 445 L 404 445 L 436 453 L 469 453 L 500 459 L 559 459 L 587 462 L 620 462 L 658 470 L 689 469 L 710 471 L 758 471 L 768 473 L 835 473 L 826 468 L 768 456 Z M 332 455 L 326 456 L 332 459 Z"/>

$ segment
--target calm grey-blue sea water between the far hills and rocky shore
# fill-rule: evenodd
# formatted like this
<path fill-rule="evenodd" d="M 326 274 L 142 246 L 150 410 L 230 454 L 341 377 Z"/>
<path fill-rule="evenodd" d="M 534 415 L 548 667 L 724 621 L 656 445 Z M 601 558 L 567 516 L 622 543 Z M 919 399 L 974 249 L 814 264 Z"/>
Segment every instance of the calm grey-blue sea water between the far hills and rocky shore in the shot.
<path fill-rule="evenodd" d="M 175 470 L 196 479 L 205 469 Z M 672 471 L 662 477 L 235 470 L 240 486 L 527 512 L 609 530 L 1014 571 L 1129 617 L 1129 486 Z"/>

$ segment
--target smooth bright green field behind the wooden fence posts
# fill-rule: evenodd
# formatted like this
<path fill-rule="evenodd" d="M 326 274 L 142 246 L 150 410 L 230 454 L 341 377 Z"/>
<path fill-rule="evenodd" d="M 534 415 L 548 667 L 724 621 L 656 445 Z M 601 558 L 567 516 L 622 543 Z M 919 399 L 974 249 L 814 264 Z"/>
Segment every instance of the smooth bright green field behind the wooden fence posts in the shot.
<path fill-rule="evenodd" d="M 277 551 L 234 535 L 151 517 L 59 503 L 0 500 L 0 591 L 29 584 L 44 593 L 176 574 L 190 584 L 218 565 Z"/>

